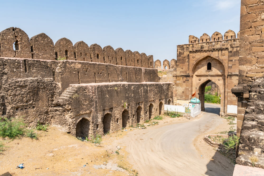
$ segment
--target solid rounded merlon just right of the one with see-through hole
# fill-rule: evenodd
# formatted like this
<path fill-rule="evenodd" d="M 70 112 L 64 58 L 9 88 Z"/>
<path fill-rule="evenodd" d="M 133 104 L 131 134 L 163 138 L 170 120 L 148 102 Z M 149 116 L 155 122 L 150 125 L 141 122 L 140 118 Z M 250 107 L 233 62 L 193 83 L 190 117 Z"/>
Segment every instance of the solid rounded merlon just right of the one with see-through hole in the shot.
<path fill-rule="evenodd" d="M 35 35 L 30 38 L 29 42 L 32 59 L 53 60 L 56 58 L 54 43 L 46 34 Z"/>

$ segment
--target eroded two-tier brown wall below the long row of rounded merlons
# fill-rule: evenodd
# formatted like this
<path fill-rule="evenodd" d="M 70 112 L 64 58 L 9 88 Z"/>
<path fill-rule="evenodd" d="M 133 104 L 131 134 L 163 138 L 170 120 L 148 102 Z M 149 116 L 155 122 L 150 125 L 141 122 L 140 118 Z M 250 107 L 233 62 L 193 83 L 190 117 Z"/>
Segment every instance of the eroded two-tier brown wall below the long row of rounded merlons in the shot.
<path fill-rule="evenodd" d="M 139 106 L 139 119 L 145 121 L 163 112 L 160 103 L 163 108 L 173 99 L 172 84 L 159 83 L 157 69 L 1 57 L 0 70 L 1 115 L 23 117 L 29 126 L 37 121 L 60 124 L 73 135 L 119 130 L 124 121 L 135 125 Z M 128 113 L 122 118 L 124 110 Z M 107 113 L 111 118 L 103 120 Z"/>

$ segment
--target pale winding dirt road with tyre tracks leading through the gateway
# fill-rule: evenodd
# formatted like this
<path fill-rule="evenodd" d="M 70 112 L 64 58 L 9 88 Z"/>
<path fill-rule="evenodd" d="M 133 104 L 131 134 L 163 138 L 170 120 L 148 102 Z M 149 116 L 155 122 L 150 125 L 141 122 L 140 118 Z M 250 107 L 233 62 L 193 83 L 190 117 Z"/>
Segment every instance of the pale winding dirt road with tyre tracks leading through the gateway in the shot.
<path fill-rule="evenodd" d="M 143 134 L 133 131 L 122 139 L 140 175 L 232 175 L 234 166 L 230 160 L 218 156 L 221 161 L 216 161 L 212 158 L 219 153 L 203 151 L 208 146 L 201 147 L 198 153 L 193 145 L 197 136 L 225 122 L 217 115 L 219 106 L 206 104 L 205 108 L 206 112 L 193 121 L 146 129 Z"/>

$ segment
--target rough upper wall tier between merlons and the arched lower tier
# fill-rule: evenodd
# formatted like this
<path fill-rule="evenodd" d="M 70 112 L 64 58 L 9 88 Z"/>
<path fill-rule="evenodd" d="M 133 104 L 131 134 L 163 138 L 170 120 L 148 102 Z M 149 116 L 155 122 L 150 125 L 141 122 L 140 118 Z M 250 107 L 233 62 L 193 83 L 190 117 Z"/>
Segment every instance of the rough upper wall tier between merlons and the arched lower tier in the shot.
<path fill-rule="evenodd" d="M 159 82 L 156 69 L 70 60 L 1 57 L 0 70 L 0 114 L 21 116 L 30 126 L 35 126 L 38 120 L 41 123 L 67 123 L 64 116 L 58 118 L 68 112 L 67 107 L 58 104 L 58 99 L 72 97 L 63 94 L 70 84 Z"/>

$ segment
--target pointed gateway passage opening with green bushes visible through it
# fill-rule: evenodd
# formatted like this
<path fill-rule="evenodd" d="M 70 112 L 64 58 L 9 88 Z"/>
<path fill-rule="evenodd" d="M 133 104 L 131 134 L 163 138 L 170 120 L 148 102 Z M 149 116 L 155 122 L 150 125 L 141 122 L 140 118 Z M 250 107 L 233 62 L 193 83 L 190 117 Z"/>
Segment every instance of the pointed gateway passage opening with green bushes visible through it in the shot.
<path fill-rule="evenodd" d="M 220 89 L 218 85 L 211 81 L 210 79 L 202 83 L 198 89 L 199 100 L 201 102 L 201 111 L 212 112 L 220 115 Z M 219 104 L 219 108 L 205 108 L 205 103 L 214 103 L 215 105 Z"/>

